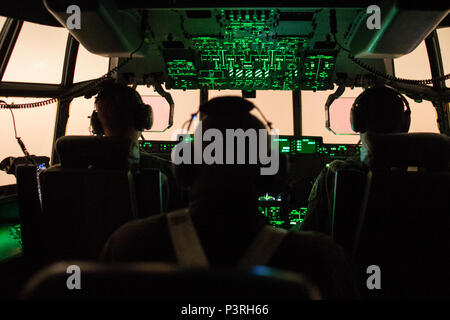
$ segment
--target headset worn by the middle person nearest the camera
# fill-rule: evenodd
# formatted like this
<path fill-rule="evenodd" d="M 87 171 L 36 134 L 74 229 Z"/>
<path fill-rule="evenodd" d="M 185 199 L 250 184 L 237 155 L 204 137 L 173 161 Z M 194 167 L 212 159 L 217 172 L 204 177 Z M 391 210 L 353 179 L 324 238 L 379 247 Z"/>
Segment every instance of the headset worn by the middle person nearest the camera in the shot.
<path fill-rule="evenodd" d="M 228 99 L 228 103 L 217 103 L 220 100 L 223 102 L 224 99 Z M 243 103 L 242 100 L 244 100 L 245 102 Z M 212 99 L 205 104 L 200 105 L 199 110 L 193 113 L 191 115 L 191 118 L 183 124 L 183 128 L 187 124 L 187 131 L 189 132 L 193 120 L 199 114 L 207 117 L 220 117 L 221 115 L 231 115 L 233 117 L 239 117 L 244 115 L 250 115 L 250 112 L 254 109 L 259 112 L 262 119 L 264 120 L 263 125 L 270 132 L 272 130 L 272 123 L 266 119 L 261 110 L 250 101 L 247 101 L 237 96 L 219 97 Z M 190 146 L 188 146 L 188 148 L 189 147 L 193 148 L 193 143 L 191 141 L 185 141 L 183 143 L 189 143 Z M 177 148 L 177 146 L 175 148 Z M 278 152 L 278 150 L 276 152 Z M 193 152 L 191 152 L 191 155 L 193 157 Z M 193 162 L 191 161 L 191 163 Z M 189 188 L 193 184 L 195 178 L 197 177 L 196 168 L 198 166 L 199 165 L 195 164 L 178 164 L 178 165 L 174 164 L 175 177 L 184 188 Z M 287 170 L 288 170 L 288 158 L 286 155 L 280 154 L 278 173 L 275 174 L 274 176 L 268 175 L 261 176 L 262 179 L 260 180 L 264 185 L 266 184 L 272 185 L 274 183 L 277 183 L 277 181 L 283 181 L 283 179 L 286 176 Z"/>

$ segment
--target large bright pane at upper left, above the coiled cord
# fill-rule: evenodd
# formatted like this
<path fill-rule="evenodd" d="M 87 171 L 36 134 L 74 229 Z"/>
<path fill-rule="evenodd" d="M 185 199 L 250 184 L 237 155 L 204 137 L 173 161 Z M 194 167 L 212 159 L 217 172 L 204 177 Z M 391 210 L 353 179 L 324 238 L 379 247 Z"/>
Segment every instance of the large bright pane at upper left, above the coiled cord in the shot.
<path fill-rule="evenodd" d="M 60 83 L 68 32 L 24 22 L 2 81 Z"/>

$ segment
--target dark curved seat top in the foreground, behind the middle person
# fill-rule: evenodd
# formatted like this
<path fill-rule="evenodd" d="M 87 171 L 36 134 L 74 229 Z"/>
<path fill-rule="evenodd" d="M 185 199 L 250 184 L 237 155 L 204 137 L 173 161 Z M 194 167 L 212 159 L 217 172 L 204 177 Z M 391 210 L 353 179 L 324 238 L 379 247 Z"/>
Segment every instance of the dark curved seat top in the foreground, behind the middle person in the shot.
<path fill-rule="evenodd" d="M 69 290 L 70 274 L 80 271 L 81 290 Z M 75 281 L 75 280 L 74 280 Z M 105 265 L 61 262 L 36 274 L 25 299 L 149 299 L 158 301 L 267 301 L 320 299 L 316 286 L 300 274 L 267 267 L 249 270 L 179 269 L 161 263 Z"/>

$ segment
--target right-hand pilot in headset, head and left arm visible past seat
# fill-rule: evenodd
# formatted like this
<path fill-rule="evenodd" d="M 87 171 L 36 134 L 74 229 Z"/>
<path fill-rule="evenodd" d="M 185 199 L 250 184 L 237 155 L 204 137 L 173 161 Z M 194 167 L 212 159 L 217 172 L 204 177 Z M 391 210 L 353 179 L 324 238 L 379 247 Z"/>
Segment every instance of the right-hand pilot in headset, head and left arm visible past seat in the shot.
<path fill-rule="evenodd" d="M 361 93 L 353 103 L 351 124 L 360 133 L 361 152 L 357 157 L 329 163 L 316 178 L 309 195 L 308 212 L 301 230 L 331 233 L 332 190 L 337 170 L 350 169 L 366 172 L 368 153 L 367 135 L 408 132 L 411 111 L 406 99 L 390 87 L 372 87 Z"/>

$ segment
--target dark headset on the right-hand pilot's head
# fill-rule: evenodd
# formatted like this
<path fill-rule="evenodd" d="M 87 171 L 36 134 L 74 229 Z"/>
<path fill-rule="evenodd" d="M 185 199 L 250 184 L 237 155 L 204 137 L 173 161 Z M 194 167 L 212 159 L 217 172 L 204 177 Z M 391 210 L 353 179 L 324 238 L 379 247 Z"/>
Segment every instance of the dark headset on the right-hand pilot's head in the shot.
<path fill-rule="evenodd" d="M 372 87 L 365 90 L 361 93 L 353 102 L 352 108 L 350 110 L 350 123 L 352 125 L 352 129 L 355 132 L 364 133 L 368 130 L 369 127 L 369 110 L 370 106 L 365 102 L 365 99 L 368 99 L 369 95 L 373 93 L 374 90 L 386 89 L 393 93 L 394 96 L 397 96 L 402 101 L 403 105 L 403 116 L 402 123 L 400 124 L 400 132 L 408 132 L 409 126 L 411 124 L 411 109 L 409 107 L 408 100 L 397 90 L 391 87 Z"/>

